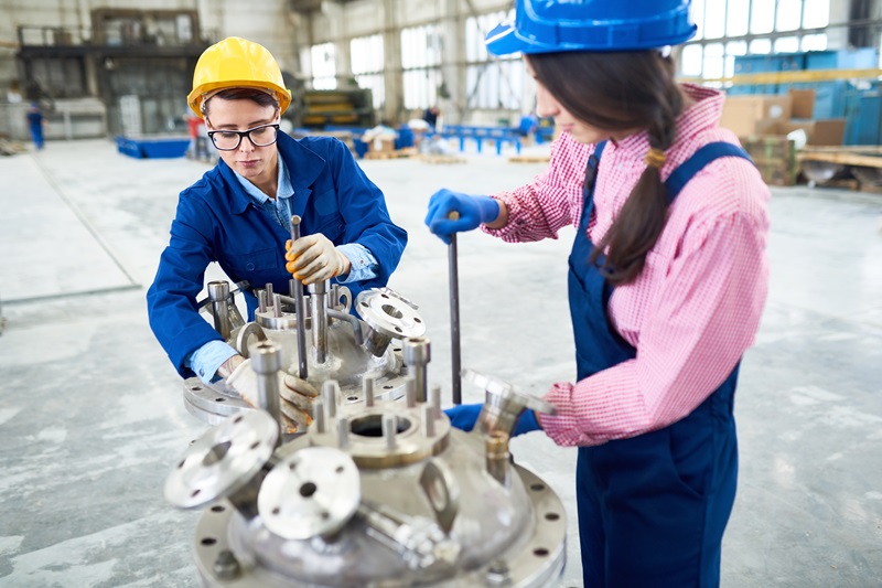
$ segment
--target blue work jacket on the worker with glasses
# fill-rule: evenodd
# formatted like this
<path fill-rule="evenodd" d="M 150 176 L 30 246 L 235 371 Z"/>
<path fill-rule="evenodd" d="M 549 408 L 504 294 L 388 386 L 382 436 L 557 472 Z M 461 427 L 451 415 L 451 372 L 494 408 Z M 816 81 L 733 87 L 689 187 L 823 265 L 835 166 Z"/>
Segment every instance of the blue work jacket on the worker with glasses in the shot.
<path fill-rule="evenodd" d="M 376 258 L 376 278 L 351 282 L 353 298 L 383 287 L 398 266 L 407 233 L 389 217 L 383 192 L 365 175 L 341 141 L 327 137 L 278 138 L 294 189 L 292 214 L 302 218 L 301 234 L 322 233 L 335 245 L 357 243 Z M 196 296 L 205 268 L 217 261 L 234 281 L 250 286 L 272 282 L 289 293 L 284 242 L 290 232 L 256 206 L 233 170 L 219 161 L 200 181 L 181 192 L 172 221 L 171 239 L 162 253 L 153 285 L 147 293 L 150 327 L 182 377 L 194 375 L 185 359 L 220 335 L 203 319 Z M 247 292 L 248 316 L 256 297 Z"/>

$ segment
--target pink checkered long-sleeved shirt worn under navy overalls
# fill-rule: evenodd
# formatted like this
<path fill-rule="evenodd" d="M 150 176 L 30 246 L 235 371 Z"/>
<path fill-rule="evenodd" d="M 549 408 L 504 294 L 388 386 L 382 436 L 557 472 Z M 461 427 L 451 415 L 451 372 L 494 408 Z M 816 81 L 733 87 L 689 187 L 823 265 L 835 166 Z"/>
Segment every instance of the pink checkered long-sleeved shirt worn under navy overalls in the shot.
<path fill-rule="evenodd" d="M 738 145 L 718 126 L 724 95 L 684 88 L 696 104 L 677 120 L 663 180 L 708 142 Z M 494 196 L 508 207 L 508 223 L 485 231 L 507 242 L 530 242 L 578 227 L 585 162 L 593 150 L 563 133 L 551 146 L 544 173 Z M 631 194 L 648 150 L 645 132 L 606 145 L 588 228 L 593 243 Z M 768 200 L 760 173 L 738 158 L 711 162 L 684 188 L 643 274 L 615 288 L 610 299 L 612 323 L 637 350 L 636 357 L 576 385 L 555 384 L 546 395 L 558 414 L 540 420 L 558 445 L 600 445 L 660 429 L 686 417 L 722 384 L 753 343 L 765 303 Z"/>

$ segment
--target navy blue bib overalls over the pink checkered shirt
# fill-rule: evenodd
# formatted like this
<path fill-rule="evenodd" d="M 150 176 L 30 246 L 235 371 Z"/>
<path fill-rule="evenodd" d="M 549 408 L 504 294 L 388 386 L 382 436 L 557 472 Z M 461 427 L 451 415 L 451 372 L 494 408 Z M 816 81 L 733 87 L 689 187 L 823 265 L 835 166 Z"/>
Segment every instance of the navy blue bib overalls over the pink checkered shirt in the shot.
<path fill-rule="evenodd" d="M 578 379 L 634 359 L 606 314 L 613 287 L 590 261 L 588 223 L 604 142 L 589 159 L 582 220 L 570 254 L 569 297 Z M 747 154 L 714 142 L 665 182 L 668 204 L 710 161 Z M 732 406 L 738 366 L 682 420 L 664 429 L 579 448 L 576 470 L 585 588 L 717 586 L 720 547 L 738 478 Z"/>

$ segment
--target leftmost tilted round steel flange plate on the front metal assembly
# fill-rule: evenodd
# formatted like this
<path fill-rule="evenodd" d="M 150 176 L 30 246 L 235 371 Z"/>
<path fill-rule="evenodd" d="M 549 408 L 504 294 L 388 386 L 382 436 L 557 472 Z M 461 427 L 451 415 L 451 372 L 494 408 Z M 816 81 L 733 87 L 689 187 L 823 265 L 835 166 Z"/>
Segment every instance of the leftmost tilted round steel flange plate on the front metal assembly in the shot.
<path fill-rule="evenodd" d="M 208 429 L 165 479 L 165 500 L 195 509 L 245 487 L 276 450 L 279 426 L 263 410 L 235 415 Z"/>

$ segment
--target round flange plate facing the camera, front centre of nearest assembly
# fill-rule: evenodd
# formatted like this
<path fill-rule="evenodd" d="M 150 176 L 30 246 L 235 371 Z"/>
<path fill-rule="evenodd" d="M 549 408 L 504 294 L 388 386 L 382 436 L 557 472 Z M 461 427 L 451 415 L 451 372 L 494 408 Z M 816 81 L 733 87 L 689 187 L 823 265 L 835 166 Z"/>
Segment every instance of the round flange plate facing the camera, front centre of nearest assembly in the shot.
<path fill-rule="evenodd" d="M 273 534 L 308 539 L 343 528 L 361 502 L 361 475 L 348 453 L 332 447 L 308 447 L 267 474 L 257 510 Z"/>

